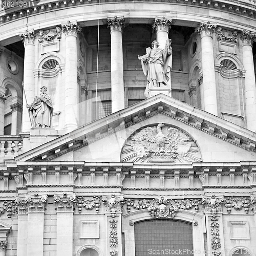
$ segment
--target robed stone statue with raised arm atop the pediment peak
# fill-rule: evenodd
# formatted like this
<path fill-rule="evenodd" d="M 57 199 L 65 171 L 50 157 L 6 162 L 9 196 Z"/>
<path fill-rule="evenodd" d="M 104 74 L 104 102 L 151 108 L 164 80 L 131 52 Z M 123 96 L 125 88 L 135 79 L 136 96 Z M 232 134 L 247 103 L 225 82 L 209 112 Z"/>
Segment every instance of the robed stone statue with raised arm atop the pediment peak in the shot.
<path fill-rule="evenodd" d="M 145 96 L 149 97 L 149 90 L 156 87 L 167 87 L 172 69 L 172 39 L 167 39 L 165 48 L 159 48 L 158 41 L 152 42 L 152 49 L 146 48 L 146 54 L 138 56 L 144 74 L 147 76 Z M 170 90 L 170 88 L 169 88 Z"/>

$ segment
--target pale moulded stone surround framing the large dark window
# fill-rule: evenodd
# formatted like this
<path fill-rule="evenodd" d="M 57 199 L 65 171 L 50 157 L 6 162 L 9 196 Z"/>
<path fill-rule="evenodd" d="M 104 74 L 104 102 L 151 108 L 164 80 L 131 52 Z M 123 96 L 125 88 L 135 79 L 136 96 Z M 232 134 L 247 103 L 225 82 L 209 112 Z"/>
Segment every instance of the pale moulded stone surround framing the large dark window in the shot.
<path fill-rule="evenodd" d="M 124 232 L 125 251 L 135 256 L 135 224 L 153 220 L 146 209 L 131 212 L 122 216 L 122 231 Z M 187 210 L 179 210 L 173 219 L 164 218 L 165 221 L 181 221 L 192 226 L 194 255 L 201 255 L 204 248 L 205 218 L 203 215 Z M 146 223 L 146 222 L 145 222 Z"/>

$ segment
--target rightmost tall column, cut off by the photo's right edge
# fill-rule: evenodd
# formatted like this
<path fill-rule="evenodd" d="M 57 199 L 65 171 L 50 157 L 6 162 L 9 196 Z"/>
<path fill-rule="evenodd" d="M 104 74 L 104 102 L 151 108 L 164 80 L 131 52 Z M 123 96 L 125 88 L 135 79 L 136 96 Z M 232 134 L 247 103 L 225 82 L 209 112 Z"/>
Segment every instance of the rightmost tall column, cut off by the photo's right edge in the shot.
<path fill-rule="evenodd" d="M 252 55 L 252 42 L 256 35 L 251 32 L 242 32 L 243 65 L 245 72 L 245 104 L 247 129 L 256 131 L 256 87 Z"/>

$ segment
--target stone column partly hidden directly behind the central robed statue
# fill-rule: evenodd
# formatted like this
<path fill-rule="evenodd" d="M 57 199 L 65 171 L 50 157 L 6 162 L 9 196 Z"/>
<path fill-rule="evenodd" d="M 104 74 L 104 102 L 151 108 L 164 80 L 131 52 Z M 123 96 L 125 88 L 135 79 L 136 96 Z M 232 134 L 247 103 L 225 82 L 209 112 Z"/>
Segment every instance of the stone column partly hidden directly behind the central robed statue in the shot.
<path fill-rule="evenodd" d="M 159 48 L 161 48 L 161 49 L 165 48 L 166 41 L 167 41 L 167 39 L 169 39 L 168 34 L 169 34 L 169 29 L 171 28 L 170 24 L 172 22 L 173 22 L 172 19 L 168 19 L 168 18 L 166 19 L 165 17 L 162 17 L 162 18 L 155 17 L 155 22 L 153 24 L 153 28 L 157 32 L 157 41 L 159 43 Z M 170 56 L 170 58 L 168 59 L 169 67 L 172 67 L 172 61 L 173 61 L 173 57 Z M 169 89 L 169 91 L 167 91 L 167 94 L 169 96 L 172 96 L 170 72 L 166 75 L 169 77 L 168 84 L 167 84 L 167 88 Z M 161 92 L 161 91 L 159 91 L 159 92 Z"/>

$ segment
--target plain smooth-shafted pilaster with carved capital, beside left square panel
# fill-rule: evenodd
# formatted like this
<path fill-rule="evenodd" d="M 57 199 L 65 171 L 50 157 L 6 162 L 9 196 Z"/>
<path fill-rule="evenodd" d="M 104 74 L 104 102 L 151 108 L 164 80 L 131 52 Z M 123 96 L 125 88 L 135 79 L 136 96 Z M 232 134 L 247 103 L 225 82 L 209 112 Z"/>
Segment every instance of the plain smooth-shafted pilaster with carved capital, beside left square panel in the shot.
<path fill-rule="evenodd" d="M 74 194 L 54 196 L 57 212 L 56 256 L 73 254 L 73 211 L 75 199 Z"/>

